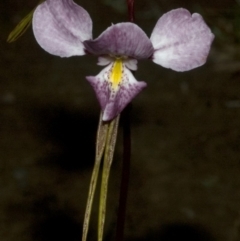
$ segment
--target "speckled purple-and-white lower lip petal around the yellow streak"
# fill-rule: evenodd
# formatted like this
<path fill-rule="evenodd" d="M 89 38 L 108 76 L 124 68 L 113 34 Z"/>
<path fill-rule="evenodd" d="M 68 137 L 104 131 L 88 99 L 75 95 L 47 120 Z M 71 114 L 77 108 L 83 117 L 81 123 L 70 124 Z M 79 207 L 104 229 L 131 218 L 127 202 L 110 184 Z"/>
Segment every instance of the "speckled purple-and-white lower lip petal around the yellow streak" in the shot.
<path fill-rule="evenodd" d="M 103 69 L 97 76 L 86 79 L 92 85 L 103 110 L 103 121 L 116 117 L 131 100 L 146 87 L 143 81 L 137 81 L 130 70 L 124 67 L 123 78 L 117 90 L 111 87 L 109 75 L 112 64 Z"/>

